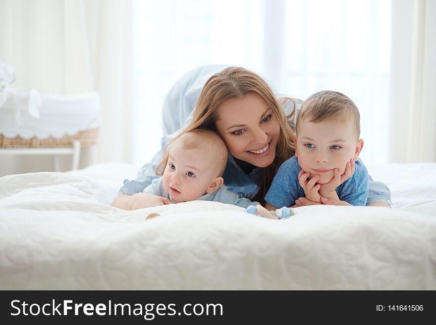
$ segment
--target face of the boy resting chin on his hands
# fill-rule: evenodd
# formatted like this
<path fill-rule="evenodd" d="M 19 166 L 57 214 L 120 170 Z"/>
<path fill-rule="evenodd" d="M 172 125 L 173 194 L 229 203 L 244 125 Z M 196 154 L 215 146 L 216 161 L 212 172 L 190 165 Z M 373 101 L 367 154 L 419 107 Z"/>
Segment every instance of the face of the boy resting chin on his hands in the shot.
<path fill-rule="evenodd" d="M 310 178 L 320 175 L 319 184 L 328 183 L 334 177 L 335 168 L 342 175 L 350 159 L 358 158 L 358 140 L 352 122 L 302 121 L 295 142 L 298 164 L 311 173 Z"/>

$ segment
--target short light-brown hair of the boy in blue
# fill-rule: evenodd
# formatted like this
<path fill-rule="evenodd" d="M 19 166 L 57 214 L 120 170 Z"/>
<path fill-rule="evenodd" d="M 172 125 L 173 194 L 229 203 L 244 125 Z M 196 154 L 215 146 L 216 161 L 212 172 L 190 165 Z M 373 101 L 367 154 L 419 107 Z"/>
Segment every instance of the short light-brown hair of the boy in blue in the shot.
<path fill-rule="evenodd" d="M 332 119 L 349 120 L 354 122 L 357 139 L 360 137 L 360 114 L 356 104 L 343 93 L 321 91 L 309 96 L 300 107 L 297 118 L 298 126 L 305 120 L 322 122 Z"/>

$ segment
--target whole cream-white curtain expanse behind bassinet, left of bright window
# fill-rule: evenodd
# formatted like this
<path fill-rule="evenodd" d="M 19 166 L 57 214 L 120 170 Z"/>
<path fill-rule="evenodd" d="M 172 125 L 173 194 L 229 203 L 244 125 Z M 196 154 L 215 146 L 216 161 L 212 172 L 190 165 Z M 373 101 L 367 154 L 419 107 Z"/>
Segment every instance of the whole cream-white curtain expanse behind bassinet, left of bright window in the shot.
<path fill-rule="evenodd" d="M 131 18 L 131 0 L 0 0 L 0 58 L 15 69 L 12 87 L 100 93 L 99 162 L 132 160 Z"/>

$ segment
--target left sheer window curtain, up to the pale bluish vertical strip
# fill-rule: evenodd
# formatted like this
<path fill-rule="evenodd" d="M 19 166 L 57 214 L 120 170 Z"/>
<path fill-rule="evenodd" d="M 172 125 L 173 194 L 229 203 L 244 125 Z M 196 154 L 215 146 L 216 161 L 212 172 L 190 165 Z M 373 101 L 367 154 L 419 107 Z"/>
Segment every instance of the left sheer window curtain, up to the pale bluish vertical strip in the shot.
<path fill-rule="evenodd" d="M 262 0 L 133 1 L 134 162 L 160 148 L 165 94 L 184 73 L 207 64 L 261 70 Z"/>

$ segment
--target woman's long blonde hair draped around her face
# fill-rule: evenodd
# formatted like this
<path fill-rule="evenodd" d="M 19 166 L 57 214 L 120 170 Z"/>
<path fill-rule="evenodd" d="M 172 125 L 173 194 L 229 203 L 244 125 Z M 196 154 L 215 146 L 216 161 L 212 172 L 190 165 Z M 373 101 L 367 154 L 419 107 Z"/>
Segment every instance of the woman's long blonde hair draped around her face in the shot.
<path fill-rule="evenodd" d="M 281 98 L 283 99 L 282 105 L 286 100 L 291 100 L 294 105 L 292 112 L 286 116 L 271 87 L 257 74 L 244 68 L 228 67 L 208 79 L 198 98 L 191 122 L 176 138 L 168 142 L 164 150 L 163 160 L 156 168 L 156 174 L 163 174 L 164 167 L 168 161 L 168 148 L 178 137 L 195 129 L 208 129 L 217 132 L 218 108 L 226 100 L 244 97 L 249 92 L 255 92 L 262 96 L 263 100 L 271 107 L 280 125 L 275 159 L 270 166 L 263 168 L 260 189 L 253 198 L 264 203 L 264 197 L 271 186 L 278 167 L 295 153 L 294 131 L 288 119 L 295 114 L 296 103 L 293 98 Z"/>

